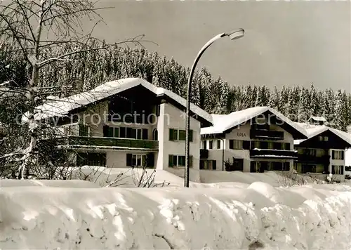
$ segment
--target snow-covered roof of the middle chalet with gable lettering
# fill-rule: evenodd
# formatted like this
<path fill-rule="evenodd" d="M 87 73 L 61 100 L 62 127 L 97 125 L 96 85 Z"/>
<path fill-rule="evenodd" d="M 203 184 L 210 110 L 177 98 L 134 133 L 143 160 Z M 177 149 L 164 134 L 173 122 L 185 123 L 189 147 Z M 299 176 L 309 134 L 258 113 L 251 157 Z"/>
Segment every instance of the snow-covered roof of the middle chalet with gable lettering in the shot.
<path fill-rule="evenodd" d="M 232 129 L 234 126 L 238 126 L 246 123 L 250 119 L 258 117 L 264 112 L 271 112 L 276 117 L 284 121 L 286 124 L 289 124 L 293 129 L 305 135 L 305 129 L 298 126 L 295 122 L 291 121 L 288 117 L 285 117 L 284 114 L 278 112 L 277 110 L 272 109 L 271 107 L 251 107 L 246 110 L 240 110 L 232 112 L 230 114 L 212 114 L 213 126 L 209 126 L 201 129 L 201 135 L 204 134 L 213 134 L 213 133 L 223 133 L 228 129 Z"/>

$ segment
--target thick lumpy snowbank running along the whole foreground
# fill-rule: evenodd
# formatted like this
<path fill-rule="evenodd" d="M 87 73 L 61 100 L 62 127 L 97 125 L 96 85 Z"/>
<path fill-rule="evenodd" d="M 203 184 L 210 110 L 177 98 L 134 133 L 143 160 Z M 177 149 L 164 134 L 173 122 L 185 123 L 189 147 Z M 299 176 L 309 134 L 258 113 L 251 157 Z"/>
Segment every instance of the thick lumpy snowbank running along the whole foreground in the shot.
<path fill-rule="evenodd" d="M 350 249 L 351 187 L 3 187 L 2 249 Z"/>

